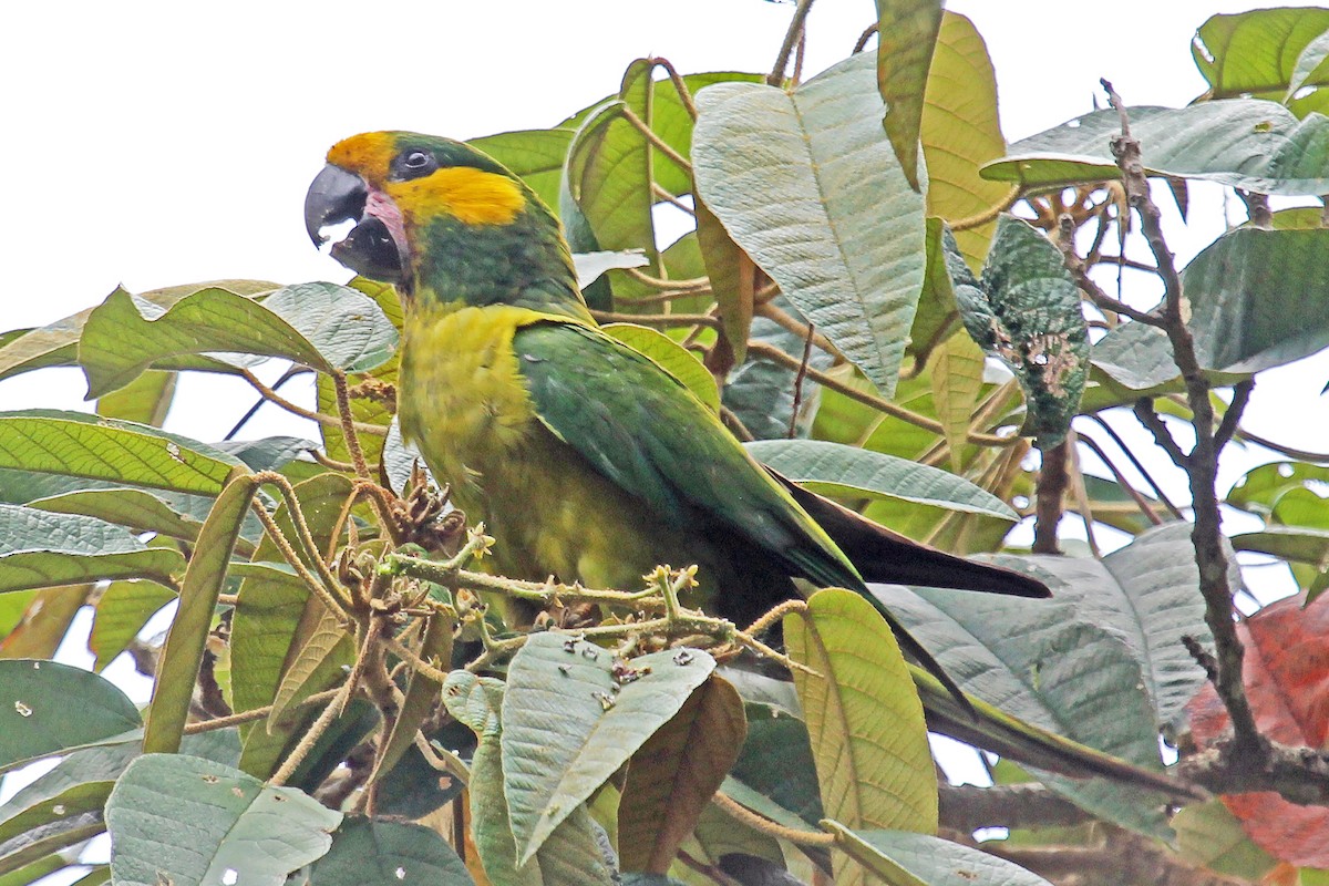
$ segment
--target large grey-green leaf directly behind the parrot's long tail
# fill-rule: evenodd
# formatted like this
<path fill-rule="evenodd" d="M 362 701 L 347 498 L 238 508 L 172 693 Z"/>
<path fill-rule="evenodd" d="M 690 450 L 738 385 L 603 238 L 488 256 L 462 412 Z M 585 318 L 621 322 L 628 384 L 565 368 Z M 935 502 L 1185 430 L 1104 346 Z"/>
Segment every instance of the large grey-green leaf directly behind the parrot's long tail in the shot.
<path fill-rule="evenodd" d="M 1118 630 L 1086 620 L 1092 612 L 1080 615 L 1074 602 L 1062 599 L 1078 596 L 1074 582 L 1083 576 L 1083 566 L 1063 558 L 1018 562 L 1049 583 L 1051 600 L 977 600 L 890 584 L 873 586 L 873 592 L 966 692 L 1037 727 L 1160 769 L 1154 711 L 1138 688 L 1144 675 L 1136 654 Z M 1062 579 L 1054 569 L 1071 571 Z M 1103 780 L 1039 777 L 1096 816 L 1167 834 L 1162 797 Z"/>

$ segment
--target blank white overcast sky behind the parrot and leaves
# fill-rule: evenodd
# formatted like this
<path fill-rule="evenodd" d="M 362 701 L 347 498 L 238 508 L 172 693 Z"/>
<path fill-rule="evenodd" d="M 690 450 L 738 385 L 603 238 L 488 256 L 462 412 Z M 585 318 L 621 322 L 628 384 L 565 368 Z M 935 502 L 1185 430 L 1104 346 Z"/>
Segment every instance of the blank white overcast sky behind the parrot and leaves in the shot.
<path fill-rule="evenodd" d="M 1189 54 L 1195 29 L 1213 13 L 1265 5 L 1278 4 L 952 0 L 948 8 L 986 39 L 1003 129 L 1015 141 L 1090 110 L 1099 77 L 1127 104 L 1187 104 L 1204 89 Z M 627 64 L 646 54 L 684 73 L 766 72 L 792 12 L 764 0 L 5 4 L 3 328 L 51 323 L 117 284 L 346 280 L 310 246 L 300 211 L 335 141 L 377 129 L 469 138 L 552 126 L 615 92 Z M 820 0 L 804 76 L 845 57 L 873 17 L 869 0 Z M 1217 189 L 1196 189 L 1192 206 L 1208 224 L 1172 240 L 1183 260 L 1221 232 Z M 1289 445 L 1325 448 L 1326 377 L 1324 355 L 1263 376 L 1248 424 Z M 215 380 L 182 384 L 185 406 L 171 426 L 221 437 L 253 400 L 218 400 L 221 391 Z M 77 371 L 35 373 L 0 383 L 0 409 L 86 408 L 84 392 Z M 312 436 L 298 421 L 259 429 Z M 1241 461 L 1252 460 L 1269 458 Z M 1224 482 L 1239 473 L 1227 468 Z"/>

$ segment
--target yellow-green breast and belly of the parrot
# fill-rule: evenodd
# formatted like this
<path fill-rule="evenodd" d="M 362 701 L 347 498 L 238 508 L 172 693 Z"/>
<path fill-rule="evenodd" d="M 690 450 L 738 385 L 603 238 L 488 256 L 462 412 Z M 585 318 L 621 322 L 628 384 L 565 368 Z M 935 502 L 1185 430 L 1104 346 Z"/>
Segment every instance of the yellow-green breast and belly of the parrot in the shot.
<path fill-rule="evenodd" d="M 722 566 L 597 473 L 534 413 L 516 331 L 550 320 L 508 306 L 416 306 L 401 351 L 401 432 L 470 522 L 497 539 L 490 569 L 513 578 L 635 590 L 657 563 Z"/>

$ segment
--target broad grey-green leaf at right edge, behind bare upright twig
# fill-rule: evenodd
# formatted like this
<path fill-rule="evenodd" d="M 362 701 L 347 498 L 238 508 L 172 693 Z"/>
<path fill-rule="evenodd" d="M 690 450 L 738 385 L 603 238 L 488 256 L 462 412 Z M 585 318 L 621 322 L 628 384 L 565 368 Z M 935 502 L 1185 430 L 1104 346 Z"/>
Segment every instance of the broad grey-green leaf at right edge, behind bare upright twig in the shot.
<path fill-rule="evenodd" d="M 1211 373 L 1247 376 L 1329 345 L 1329 230 L 1229 231 L 1181 271 L 1181 286 L 1196 359 Z M 1092 356 L 1143 391 L 1179 376 L 1171 353 L 1162 329 L 1124 323 Z"/>

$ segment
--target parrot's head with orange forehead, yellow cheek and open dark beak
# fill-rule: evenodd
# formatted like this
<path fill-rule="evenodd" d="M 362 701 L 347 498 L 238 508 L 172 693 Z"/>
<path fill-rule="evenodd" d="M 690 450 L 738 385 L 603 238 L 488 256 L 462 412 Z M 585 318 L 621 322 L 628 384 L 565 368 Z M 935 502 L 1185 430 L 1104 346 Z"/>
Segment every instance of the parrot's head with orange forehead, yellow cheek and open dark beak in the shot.
<path fill-rule="evenodd" d="M 387 132 L 332 146 L 304 198 L 315 246 L 354 227 L 332 258 L 411 303 L 513 304 L 589 317 L 558 219 L 488 154 Z"/>

